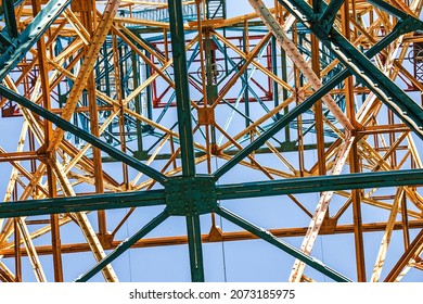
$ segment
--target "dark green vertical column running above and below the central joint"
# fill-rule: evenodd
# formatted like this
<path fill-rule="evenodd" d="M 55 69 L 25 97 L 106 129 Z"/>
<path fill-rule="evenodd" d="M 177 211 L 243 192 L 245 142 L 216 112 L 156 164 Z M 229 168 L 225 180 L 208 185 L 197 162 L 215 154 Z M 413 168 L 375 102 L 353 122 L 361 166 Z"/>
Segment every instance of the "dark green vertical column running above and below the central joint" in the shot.
<path fill-rule="evenodd" d="M 182 176 L 195 175 L 194 147 L 189 94 L 185 38 L 183 31 L 182 2 L 169 0 L 171 51 L 174 58 L 175 89 L 177 98 L 178 127 L 181 145 Z M 202 41 L 200 41 L 202 43 Z M 200 216 L 187 216 L 187 232 L 190 251 L 191 279 L 204 281 L 203 249 L 201 242 Z"/>

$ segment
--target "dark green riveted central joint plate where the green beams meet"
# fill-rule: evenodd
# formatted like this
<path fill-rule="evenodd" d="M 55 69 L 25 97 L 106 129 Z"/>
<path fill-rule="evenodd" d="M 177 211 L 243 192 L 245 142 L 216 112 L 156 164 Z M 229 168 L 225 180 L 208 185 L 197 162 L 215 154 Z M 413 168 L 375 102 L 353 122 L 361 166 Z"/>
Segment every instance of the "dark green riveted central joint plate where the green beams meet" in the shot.
<path fill-rule="evenodd" d="M 209 175 L 171 177 L 165 182 L 167 211 L 170 215 L 198 215 L 216 211 L 215 178 Z"/>

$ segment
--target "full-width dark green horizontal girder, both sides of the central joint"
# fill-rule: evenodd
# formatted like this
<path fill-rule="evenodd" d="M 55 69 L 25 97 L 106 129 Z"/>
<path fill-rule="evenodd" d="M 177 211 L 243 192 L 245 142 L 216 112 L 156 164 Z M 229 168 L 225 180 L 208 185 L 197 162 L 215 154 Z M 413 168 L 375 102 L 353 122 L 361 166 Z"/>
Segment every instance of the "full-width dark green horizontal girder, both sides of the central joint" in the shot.
<path fill-rule="evenodd" d="M 419 185 L 423 185 L 423 169 L 316 176 L 216 186 L 216 200 Z M 165 190 L 104 193 L 1 203 L 0 218 L 165 204 Z"/>

